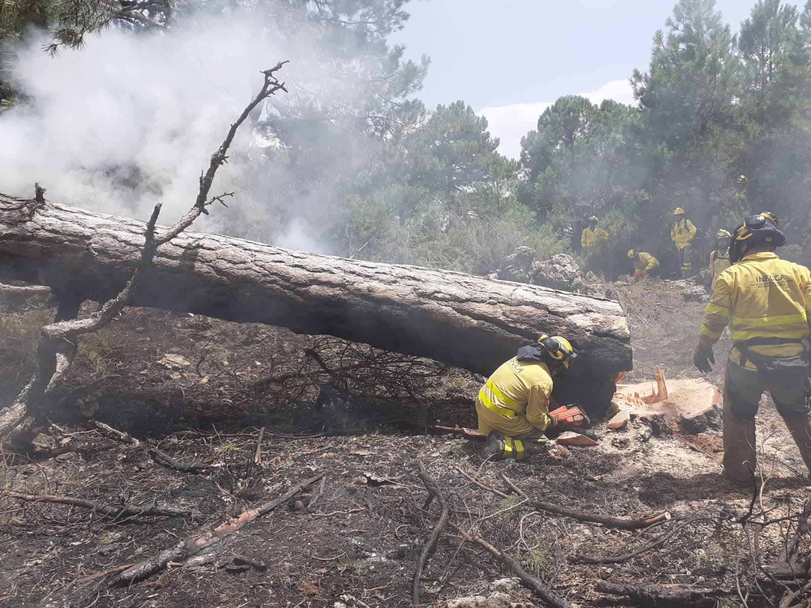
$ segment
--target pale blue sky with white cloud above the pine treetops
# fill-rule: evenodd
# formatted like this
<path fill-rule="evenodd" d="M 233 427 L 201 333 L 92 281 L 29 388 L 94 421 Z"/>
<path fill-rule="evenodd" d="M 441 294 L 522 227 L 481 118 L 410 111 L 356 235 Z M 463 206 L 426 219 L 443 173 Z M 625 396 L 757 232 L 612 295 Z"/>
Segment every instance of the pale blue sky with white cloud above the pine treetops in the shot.
<path fill-rule="evenodd" d="M 412 0 L 390 38 L 406 56 L 431 57 L 418 97 L 429 108 L 459 99 L 490 121 L 500 152 L 517 156 L 540 113 L 570 94 L 633 103 L 627 79 L 646 70 L 654 32 L 674 0 Z M 718 0 L 737 31 L 755 0 Z"/>

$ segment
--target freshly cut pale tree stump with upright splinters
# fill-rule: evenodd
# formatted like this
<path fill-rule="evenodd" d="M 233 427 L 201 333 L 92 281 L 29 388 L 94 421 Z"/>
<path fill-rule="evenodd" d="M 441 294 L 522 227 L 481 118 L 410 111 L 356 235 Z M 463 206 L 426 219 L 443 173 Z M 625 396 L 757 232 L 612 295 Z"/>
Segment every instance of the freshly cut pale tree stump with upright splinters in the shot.
<path fill-rule="evenodd" d="M 663 416 L 691 435 L 721 426 L 718 388 L 704 379 L 665 380 L 659 367 L 653 382 L 617 384 L 613 403 L 633 416 Z"/>

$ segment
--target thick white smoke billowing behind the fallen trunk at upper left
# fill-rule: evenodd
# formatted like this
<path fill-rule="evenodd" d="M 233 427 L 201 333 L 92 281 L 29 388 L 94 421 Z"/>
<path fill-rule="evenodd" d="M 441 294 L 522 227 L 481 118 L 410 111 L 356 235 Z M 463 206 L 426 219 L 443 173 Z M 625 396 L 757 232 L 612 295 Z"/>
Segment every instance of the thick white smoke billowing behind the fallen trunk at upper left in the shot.
<path fill-rule="evenodd" d="M 174 221 L 191 207 L 201 170 L 259 90 L 261 70 L 289 59 L 278 77 L 290 83 L 291 98 L 297 83 L 308 87 L 307 94 L 315 91 L 315 104 L 363 96 L 316 72 L 322 68 L 312 61 L 315 32 L 301 28 L 279 48 L 267 37 L 245 19 L 217 15 L 195 19 L 193 28 L 155 34 L 109 28 L 90 36 L 84 49 L 51 58 L 42 51 L 44 38 L 29 36 L 28 45 L 17 49 L 15 76 L 32 104 L 0 114 L 0 191 L 30 197 L 39 182 L 48 199 L 141 219 L 160 202 L 161 223 Z M 264 206 L 261 195 L 240 201 L 240 195 L 251 196 L 259 166 L 248 166 L 252 137 L 246 123 L 212 186 L 212 195 L 237 191 L 226 201 L 234 208 L 221 213 L 251 228 L 246 209 L 259 213 Z M 217 212 L 201 218 L 195 229 L 217 231 L 216 218 Z M 287 246 L 314 246 L 301 225 L 263 226 L 254 233 L 263 240 L 281 234 Z"/>

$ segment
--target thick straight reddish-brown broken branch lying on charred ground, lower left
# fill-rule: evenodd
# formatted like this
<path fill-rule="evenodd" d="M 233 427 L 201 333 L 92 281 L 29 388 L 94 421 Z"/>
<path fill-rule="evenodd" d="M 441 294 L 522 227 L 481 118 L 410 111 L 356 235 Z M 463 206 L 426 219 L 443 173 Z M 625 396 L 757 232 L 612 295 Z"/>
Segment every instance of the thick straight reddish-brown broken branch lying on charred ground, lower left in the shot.
<path fill-rule="evenodd" d="M 152 558 L 144 559 L 144 561 L 139 562 L 135 564 L 135 566 L 122 572 L 121 576 L 118 576 L 116 582 L 118 584 L 132 584 L 139 580 L 143 580 L 148 576 L 152 576 L 156 572 L 161 572 L 161 570 L 163 570 L 166 567 L 166 564 L 169 562 L 180 562 L 190 555 L 205 549 L 206 547 L 217 544 L 225 538 L 230 537 L 230 535 L 234 532 L 237 532 L 246 525 L 250 524 L 251 521 L 267 515 L 280 504 L 286 503 L 301 490 L 317 482 L 321 477 L 324 477 L 324 473 L 318 473 L 314 477 L 307 479 L 307 481 L 299 483 L 298 486 L 290 488 L 285 495 L 276 500 L 272 500 L 269 503 L 264 503 L 255 509 L 251 509 L 250 511 L 242 512 L 242 514 L 240 514 L 238 517 L 234 517 L 226 521 L 225 524 L 222 524 L 213 530 L 208 530 L 207 532 L 199 534 L 198 536 L 182 540 L 181 542 L 178 542 L 177 545 L 161 551 L 161 553 L 153 556 Z"/>

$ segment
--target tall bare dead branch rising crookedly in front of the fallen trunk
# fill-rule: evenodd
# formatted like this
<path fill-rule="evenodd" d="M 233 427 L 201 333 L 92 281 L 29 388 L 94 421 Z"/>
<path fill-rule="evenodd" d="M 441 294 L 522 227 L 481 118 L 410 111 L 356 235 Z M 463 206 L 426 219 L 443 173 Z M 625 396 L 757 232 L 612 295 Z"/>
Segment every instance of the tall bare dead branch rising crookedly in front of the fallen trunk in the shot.
<path fill-rule="evenodd" d="M 114 298 L 110 298 L 96 312 L 87 319 L 58 319 L 56 323 L 51 323 L 41 328 L 38 333 L 36 345 L 36 368 L 31 381 L 23 388 L 17 399 L 9 407 L 0 412 L 0 440 L 9 439 L 19 425 L 28 417 L 32 409 L 38 409 L 45 401 L 45 397 L 52 390 L 71 365 L 72 354 L 75 352 L 75 339 L 85 333 L 95 332 L 105 327 L 114 319 L 130 302 L 139 283 L 143 280 L 147 268 L 152 264 L 157 248 L 166 242 L 171 241 L 183 230 L 187 229 L 201 213 L 208 214 L 206 207 L 217 200 L 218 197 L 208 199 L 208 192 L 211 190 L 214 175 L 221 165 L 225 164 L 228 156 L 226 153 L 230 148 L 234 135 L 248 114 L 268 96 L 272 96 L 278 91 L 285 91 L 285 84 L 280 83 L 275 73 L 281 70 L 285 62 L 279 62 L 277 66 L 266 70 L 263 73 L 264 83 L 260 92 L 249 103 L 239 118 L 230 126 L 228 134 L 217 148 L 217 152 L 211 157 L 208 170 L 200 176 L 200 191 L 197 194 L 194 206 L 171 228 L 156 235 L 157 217 L 161 212 L 161 203 L 157 203 L 152 210 L 152 216 L 144 231 L 144 246 L 141 250 L 139 261 L 135 267 L 127 284 Z M 40 198 L 40 188 L 37 188 L 37 200 Z M 44 190 L 42 190 L 44 192 Z M 43 198 L 41 202 L 45 202 Z M 76 307 L 78 310 L 78 306 Z"/>

